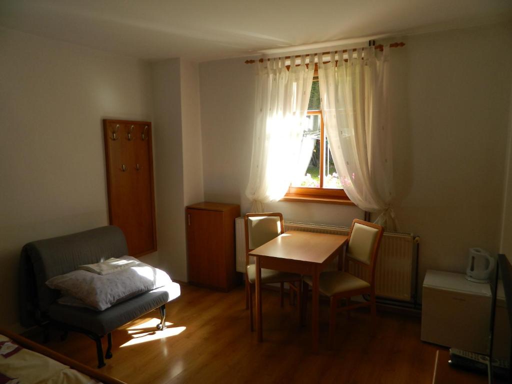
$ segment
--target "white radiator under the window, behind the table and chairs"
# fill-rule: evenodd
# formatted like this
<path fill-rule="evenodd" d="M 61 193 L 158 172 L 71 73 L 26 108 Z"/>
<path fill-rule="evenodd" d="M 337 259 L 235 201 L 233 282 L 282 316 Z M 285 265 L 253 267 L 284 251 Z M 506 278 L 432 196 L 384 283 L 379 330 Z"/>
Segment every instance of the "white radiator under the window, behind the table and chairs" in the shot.
<path fill-rule="evenodd" d="M 337 225 L 307 224 L 285 221 L 285 231 L 302 230 L 347 235 L 350 228 Z M 237 271 L 245 272 L 245 229 L 244 219 L 236 220 L 237 237 Z M 419 240 L 419 239 L 418 239 Z M 412 233 L 384 232 L 380 243 L 375 271 L 375 291 L 378 296 L 393 298 L 401 301 L 412 301 L 413 270 L 415 239 Z M 251 257 L 251 263 L 254 258 Z M 326 269 L 334 270 L 337 261 L 334 260 Z M 355 268 L 354 268 L 355 267 Z M 358 266 L 351 263 L 350 272 L 357 276 L 362 273 Z M 361 276 L 362 277 L 362 276 Z"/>

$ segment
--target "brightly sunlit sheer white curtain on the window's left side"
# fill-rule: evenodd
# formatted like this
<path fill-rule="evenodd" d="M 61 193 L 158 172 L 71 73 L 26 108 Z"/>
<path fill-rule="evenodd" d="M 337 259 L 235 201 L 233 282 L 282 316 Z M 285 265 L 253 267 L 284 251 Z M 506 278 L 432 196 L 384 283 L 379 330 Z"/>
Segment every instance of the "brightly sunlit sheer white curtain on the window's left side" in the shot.
<path fill-rule="evenodd" d="M 306 157 L 304 151 L 309 145 L 303 145 L 303 135 L 314 66 L 306 67 L 305 55 L 300 59 L 301 65 L 295 67 L 296 57 L 291 57 L 290 71 L 285 58 L 258 65 L 251 170 L 246 189 L 252 212 L 263 212 L 265 203 L 281 199 L 290 182 L 306 172 L 308 164 L 300 159 L 301 152 L 302 158 Z"/>

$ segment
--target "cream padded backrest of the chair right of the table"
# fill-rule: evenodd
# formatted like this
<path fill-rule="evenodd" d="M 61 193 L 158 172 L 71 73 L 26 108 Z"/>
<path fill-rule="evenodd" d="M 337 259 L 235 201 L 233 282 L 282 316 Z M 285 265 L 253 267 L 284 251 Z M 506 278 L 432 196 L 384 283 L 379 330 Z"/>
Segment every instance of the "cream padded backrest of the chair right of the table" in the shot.
<path fill-rule="evenodd" d="M 350 227 L 345 254 L 345 271 L 349 271 L 349 262 L 358 264 L 369 272 L 369 283 L 372 286 L 375 282 L 377 254 L 383 232 L 382 226 L 359 219 L 354 219 Z"/>

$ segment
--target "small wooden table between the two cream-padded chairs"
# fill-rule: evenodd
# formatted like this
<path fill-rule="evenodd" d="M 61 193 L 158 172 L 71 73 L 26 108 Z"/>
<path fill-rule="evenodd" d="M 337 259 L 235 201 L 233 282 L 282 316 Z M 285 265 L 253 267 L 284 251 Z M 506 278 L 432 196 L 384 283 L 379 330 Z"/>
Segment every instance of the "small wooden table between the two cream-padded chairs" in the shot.
<path fill-rule="evenodd" d="M 313 352 L 318 352 L 318 298 L 320 272 L 334 259 L 347 242 L 347 236 L 337 234 L 288 231 L 249 252 L 256 259 L 256 331 L 263 341 L 261 269 L 311 275 Z"/>

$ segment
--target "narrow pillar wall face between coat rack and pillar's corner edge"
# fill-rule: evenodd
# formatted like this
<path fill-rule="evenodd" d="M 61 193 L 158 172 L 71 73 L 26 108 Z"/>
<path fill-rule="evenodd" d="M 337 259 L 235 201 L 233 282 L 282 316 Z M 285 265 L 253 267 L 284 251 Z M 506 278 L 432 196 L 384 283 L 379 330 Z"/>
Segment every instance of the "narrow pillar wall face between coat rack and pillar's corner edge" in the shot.
<path fill-rule="evenodd" d="M 151 70 L 158 257 L 171 278 L 186 281 L 180 59 Z"/>

